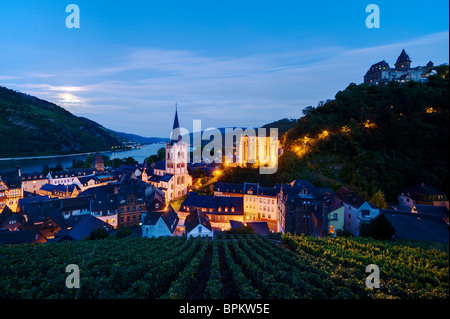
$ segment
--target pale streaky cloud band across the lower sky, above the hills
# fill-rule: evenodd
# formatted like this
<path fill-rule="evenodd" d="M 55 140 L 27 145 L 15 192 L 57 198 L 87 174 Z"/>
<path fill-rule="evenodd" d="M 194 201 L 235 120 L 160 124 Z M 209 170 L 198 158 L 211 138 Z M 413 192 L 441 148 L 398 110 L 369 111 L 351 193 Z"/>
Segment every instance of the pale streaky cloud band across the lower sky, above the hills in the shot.
<path fill-rule="evenodd" d="M 445 31 L 366 48 L 327 46 L 247 56 L 133 48 L 116 57 L 120 62 L 65 70 L 71 77 L 64 83 L 57 76 L 33 83 L 6 80 L 111 129 L 165 136 L 161 132 L 172 124 L 175 102 L 186 128 L 194 119 L 206 128 L 296 118 L 303 107 L 334 98 L 350 82 L 361 83 L 371 64 L 393 64 L 403 48 L 413 66 L 429 60 L 448 63 L 448 35 Z"/>

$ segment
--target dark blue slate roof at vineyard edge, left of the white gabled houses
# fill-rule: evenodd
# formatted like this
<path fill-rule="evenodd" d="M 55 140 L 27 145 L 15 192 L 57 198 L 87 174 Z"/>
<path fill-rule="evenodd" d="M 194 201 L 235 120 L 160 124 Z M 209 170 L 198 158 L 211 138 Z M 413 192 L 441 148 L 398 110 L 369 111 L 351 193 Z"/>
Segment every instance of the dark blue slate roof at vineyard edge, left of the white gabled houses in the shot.
<path fill-rule="evenodd" d="M 114 228 L 92 215 L 78 216 L 78 219 L 80 220 L 73 227 L 60 230 L 52 241 L 65 242 L 82 240 L 87 238 L 95 229 L 105 228 L 110 231 Z"/>

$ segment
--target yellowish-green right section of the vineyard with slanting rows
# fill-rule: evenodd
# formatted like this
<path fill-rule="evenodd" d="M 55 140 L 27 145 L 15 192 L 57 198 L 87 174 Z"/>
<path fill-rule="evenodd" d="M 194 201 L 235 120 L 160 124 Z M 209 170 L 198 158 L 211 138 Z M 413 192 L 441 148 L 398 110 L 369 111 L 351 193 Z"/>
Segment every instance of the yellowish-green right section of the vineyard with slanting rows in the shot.
<path fill-rule="evenodd" d="M 408 247 L 363 237 L 312 238 L 283 235 L 297 261 L 314 265 L 331 281 L 334 298 L 445 299 L 449 296 L 448 251 Z M 366 266 L 380 268 L 380 289 L 365 288 Z M 305 268 L 306 269 L 306 268 Z"/>

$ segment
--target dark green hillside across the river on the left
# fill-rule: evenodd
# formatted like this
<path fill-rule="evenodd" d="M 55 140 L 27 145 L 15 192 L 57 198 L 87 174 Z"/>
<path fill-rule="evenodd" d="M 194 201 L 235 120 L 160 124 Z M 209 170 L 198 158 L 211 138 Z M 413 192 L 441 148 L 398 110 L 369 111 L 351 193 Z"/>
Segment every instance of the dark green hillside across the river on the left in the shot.
<path fill-rule="evenodd" d="M 56 104 L 0 86 L 0 157 L 109 150 L 123 141 Z"/>

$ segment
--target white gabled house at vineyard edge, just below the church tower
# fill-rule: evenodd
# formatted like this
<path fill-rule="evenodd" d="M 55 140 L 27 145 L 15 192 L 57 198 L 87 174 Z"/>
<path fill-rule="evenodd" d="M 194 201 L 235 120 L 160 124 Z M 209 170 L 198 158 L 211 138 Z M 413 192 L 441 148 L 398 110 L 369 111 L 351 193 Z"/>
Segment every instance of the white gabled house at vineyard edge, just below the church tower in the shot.
<path fill-rule="evenodd" d="M 148 211 L 142 218 L 142 237 L 174 236 L 178 221 L 178 214 L 171 205 L 163 210 Z"/>

